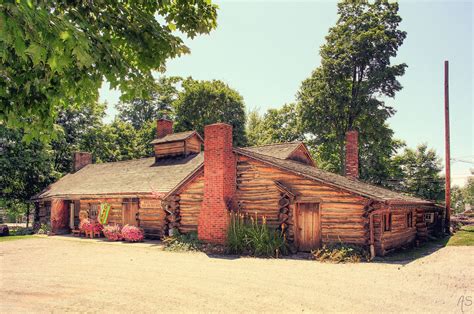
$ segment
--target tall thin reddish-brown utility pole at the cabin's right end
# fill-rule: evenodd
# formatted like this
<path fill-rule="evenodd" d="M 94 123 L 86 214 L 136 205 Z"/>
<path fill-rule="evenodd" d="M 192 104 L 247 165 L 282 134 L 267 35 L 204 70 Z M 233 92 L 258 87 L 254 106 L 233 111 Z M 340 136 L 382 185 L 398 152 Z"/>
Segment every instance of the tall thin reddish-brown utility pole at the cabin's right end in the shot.
<path fill-rule="evenodd" d="M 449 136 L 449 61 L 444 61 L 444 131 L 445 131 L 445 194 L 444 199 L 446 203 L 446 232 L 450 232 L 451 220 L 451 147 Z"/>

